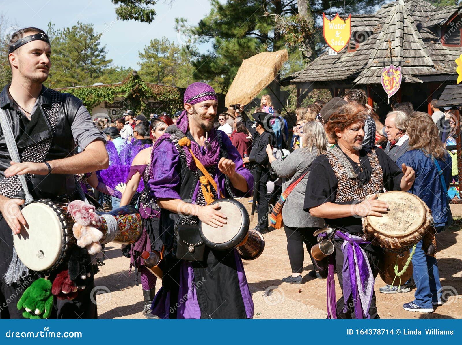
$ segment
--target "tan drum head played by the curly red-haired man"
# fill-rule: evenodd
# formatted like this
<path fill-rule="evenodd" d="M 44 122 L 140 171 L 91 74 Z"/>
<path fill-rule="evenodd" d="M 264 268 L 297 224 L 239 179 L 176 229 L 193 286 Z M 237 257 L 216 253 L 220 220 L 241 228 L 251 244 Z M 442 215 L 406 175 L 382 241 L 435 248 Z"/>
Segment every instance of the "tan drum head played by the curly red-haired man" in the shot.
<path fill-rule="evenodd" d="M 425 222 L 426 209 L 422 200 L 408 192 L 392 190 L 379 194 L 377 200 L 387 202 L 389 211 L 382 217 L 367 216 L 369 224 L 389 237 L 407 236 Z"/>

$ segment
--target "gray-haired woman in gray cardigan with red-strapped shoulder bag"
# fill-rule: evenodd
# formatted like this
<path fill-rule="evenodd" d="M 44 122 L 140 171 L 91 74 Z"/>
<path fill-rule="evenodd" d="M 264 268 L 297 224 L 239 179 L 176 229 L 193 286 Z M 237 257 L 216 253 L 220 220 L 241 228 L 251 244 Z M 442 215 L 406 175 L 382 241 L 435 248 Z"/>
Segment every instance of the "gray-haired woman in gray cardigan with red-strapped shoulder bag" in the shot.
<path fill-rule="evenodd" d="M 273 156 L 273 149 L 269 145 L 267 146 L 267 155 L 274 173 L 279 177 L 287 178 L 287 181 L 282 185 L 283 190 L 286 190 L 292 180 L 309 167 L 318 155 L 327 150 L 326 134 L 320 122 L 306 123 L 303 126 L 303 131 L 304 147 L 294 150 L 284 161 L 276 160 Z M 313 233 L 324 226 L 322 218 L 313 217 L 309 212 L 303 210 L 306 181 L 309 174 L 307 173 L 287 196 L 282 207 L 282 221 L 287 236 L 287 253 L 292 268 L 292 275 L 283 278 L 282 281 L 291 284 L 303 283 L 303 244 L 306 245 L 306 249 L 310 253 L 311 247 L 317 243 Z M 313 261 L 312 258 L 311 261 Z M 314 263 L 313 266 L 316 267 Z M 320 278 L 314 270 L 309 272 L 309 275 Z"/>

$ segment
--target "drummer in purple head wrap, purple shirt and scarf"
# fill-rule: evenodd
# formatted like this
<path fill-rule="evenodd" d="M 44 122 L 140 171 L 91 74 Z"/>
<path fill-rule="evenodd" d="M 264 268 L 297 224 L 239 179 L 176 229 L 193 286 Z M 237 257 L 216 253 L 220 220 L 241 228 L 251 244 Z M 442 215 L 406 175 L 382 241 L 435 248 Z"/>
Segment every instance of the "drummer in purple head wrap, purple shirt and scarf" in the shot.
<path fill-rule="evenodd" d="M 167 128 L 152 150 L 154 168 L 150 171 L 149 187 L 162 208 L 161 239 L 169 253 L 164 258 L 162 288 L 152 302 L 152 314 L 159 318 L 253 317 L 254 305 L 236 249 L 189 245 L 193 258 L 188 256 L 186 261 L 185 256 L 178 257 L 184 245 L 179 240 L 178 226 L 188 224 L 194 228 L 201 221 L 219 231 L 230 221 L 217 205 L 206 201 L 210 200 L 210 193 L 215 200 L 251 193 L 253 177 L 242 166 L 241 155 L 228 136 L 213 127 L 217 107 L 217 95 L 210 85 L 189 85 L 176 125 Z M 204 174 L 198 165 L 205 167 L 217 190 L 204 192 L 200 183 Z M 197 235 L 188 233 L 189 240 L 195 242 L 192 238 Z"/>

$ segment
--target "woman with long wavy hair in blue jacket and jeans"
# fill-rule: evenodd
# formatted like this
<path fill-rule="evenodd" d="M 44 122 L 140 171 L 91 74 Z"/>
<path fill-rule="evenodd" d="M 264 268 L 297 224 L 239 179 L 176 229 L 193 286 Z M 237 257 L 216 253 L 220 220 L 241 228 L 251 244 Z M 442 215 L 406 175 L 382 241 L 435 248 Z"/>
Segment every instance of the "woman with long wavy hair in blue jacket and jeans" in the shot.
<path fill-rule="evenodd" d="M 438 128 L 427 113 L 413 112 L 406 125 L 409 135 L 409 150 L 396 162 L 413 167 L 415 182 L 410 193 L 419 196 L 432 210 L 437 232 L 445 230 L 452 223 L 452 214 L 447 199 L 452 170 L 452 159 L 438 137 Z M 436 258 L 422 250 L 422 241 L 412 257 L 413 278 L 416 285 L 415 299 L 405 303 L 408 311 L 432 313 L 433 305 L 443 304 Z"/>

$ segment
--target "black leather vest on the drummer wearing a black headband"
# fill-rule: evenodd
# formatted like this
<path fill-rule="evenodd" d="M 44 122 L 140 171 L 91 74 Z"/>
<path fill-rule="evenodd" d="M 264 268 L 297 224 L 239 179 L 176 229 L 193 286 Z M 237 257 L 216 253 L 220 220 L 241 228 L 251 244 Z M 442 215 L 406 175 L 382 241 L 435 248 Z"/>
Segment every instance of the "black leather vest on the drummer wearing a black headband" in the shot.
<path fill-rule="evenodd" d="M 52 161 L 66 158 L 74 154 L 75 142 L 72 135 L 71 126 L 81 102 L 73 95 L 61 93 L 53 89 L 42 87 L 41 95 L 37 101 L 32 117 L 43 116 L 48 128 L 41 128 L 40 131 L 32 131 L 33 135 L 24 137 L 24 122 L 20 119 L 21 115 L 18 106 L 8 95 L 7 85 L 0 93 L 0 107 L 6 112 L 6 116 L 12 124 L 12 132 L 18 146 L 19 155 L 24 157 L 24 151 L 31 147 L 37 147 L 49 141 L 48 153 L 42 161 Z M 50 121 L 51 120 L 51 121 Z M 45 126 L 46 127 L 46 126 Z M 30 150 L 33 152 L 33 150 Z M 33 157 L 32 157 L 33 159 Z M 33 161 L 33 160 L 30 161 Z M 0 189 L 5 189 L 7 180 L 5 170 L 10 167 L 10 155 L 6 148 L 5 136 L 0 130 Z M 57 200 L 62 196 L 67 196 L 69 200 L 79 198 L 76 193 L 77 184 L 72 174 L 52 174 L 52 175 L 27 175 L 29 191 L 35 199 L 48 198 Z M 2 190 L 0 190 L 1 194 Z M 24 192 L 21 189 L 15 197 L 24 199 Z"/>

